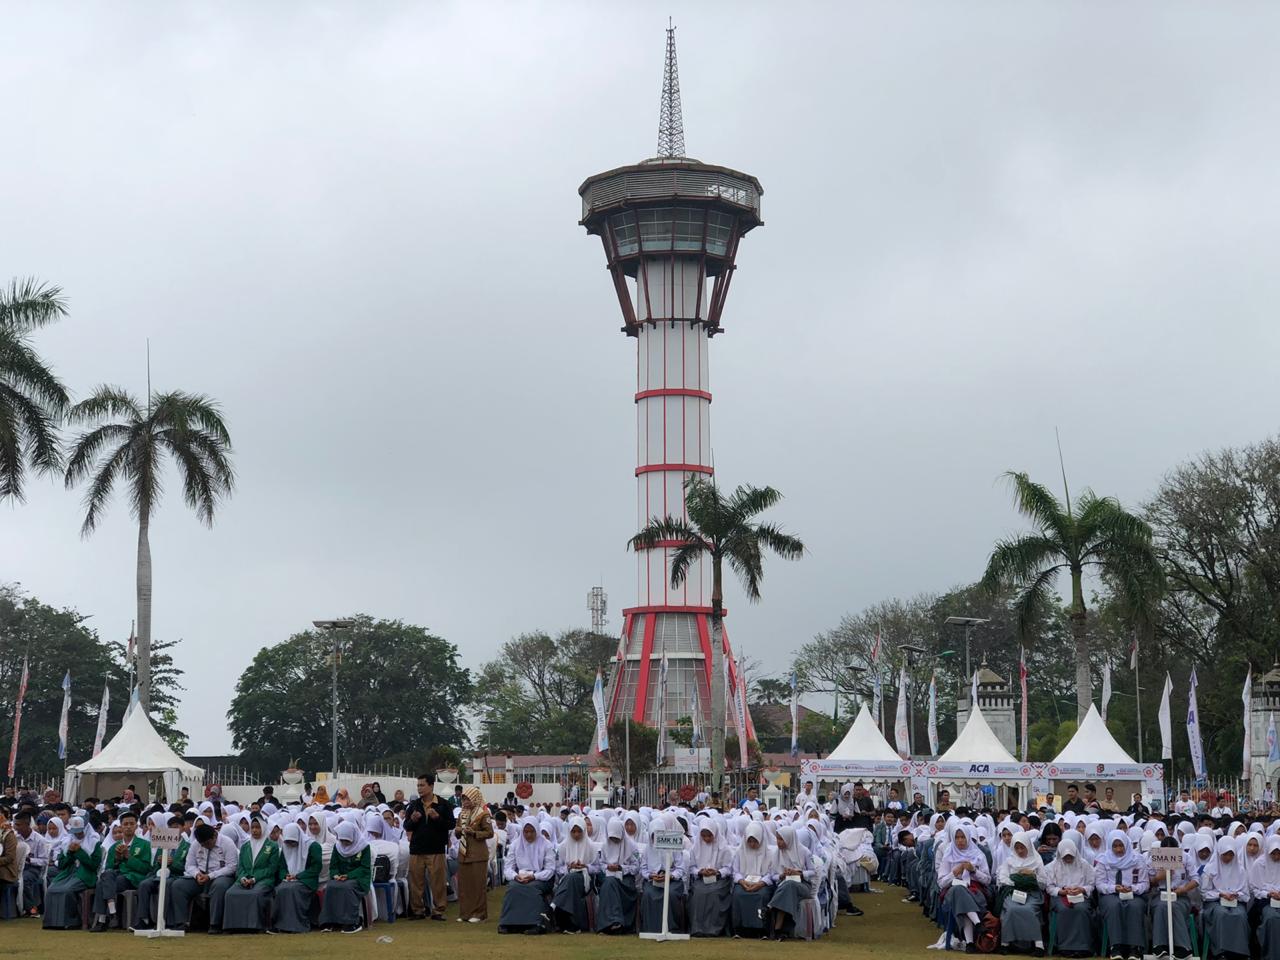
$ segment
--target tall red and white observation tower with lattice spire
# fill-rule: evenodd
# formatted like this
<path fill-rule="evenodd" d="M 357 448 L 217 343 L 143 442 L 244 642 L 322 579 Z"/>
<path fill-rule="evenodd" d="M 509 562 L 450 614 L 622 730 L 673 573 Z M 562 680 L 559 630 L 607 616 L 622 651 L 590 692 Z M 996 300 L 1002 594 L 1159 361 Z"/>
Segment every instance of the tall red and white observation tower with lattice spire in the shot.
<path fill-rule="evenodd" d="M 709 379 L 712 339 L 721 321 L 742 237 L 760 220 L 760 182 L 685 155 L 676 68 L 676 32 L 667 61 L 658 154 L 589 177 L 579 188 L 581 224 L 600 238 L 622 312 L 636 344 L 635 530 L 652 517 L 685 516 L 685 480 L 713 476 Z M 671 586 L 669 547 L 636 558 L 636 605 L 622 611 L 622 637 L 605 703 L 622 716 L 671 727 L 681 717 L 710 722 L 710 563 L 698 562 Z M 728 731 L 736 731 L 739 664 L 723 631 Z M 658 718 L 659 672 L 667 692 Z M 696 710 L 695 710 L 696 685 Z M 755 737 L 745 708 L 746 739 Z M 704 737 L 707 733 L 704 732 Z"/>

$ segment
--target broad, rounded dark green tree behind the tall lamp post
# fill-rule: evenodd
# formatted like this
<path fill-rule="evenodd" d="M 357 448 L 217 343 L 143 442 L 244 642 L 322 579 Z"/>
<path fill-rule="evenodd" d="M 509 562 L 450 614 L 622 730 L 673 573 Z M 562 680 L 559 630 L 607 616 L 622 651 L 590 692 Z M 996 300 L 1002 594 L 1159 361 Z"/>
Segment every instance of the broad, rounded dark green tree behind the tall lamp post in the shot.
<path fill-rule="evenodd" d="M 376 763 L 406 748 L 465 746 L 460 722 L 471 677 L 457 648 L 424 627 L 361 614 L 344 631 L 338 662 L 338 758 L 343 768 Z M 315 630 L 259 650 L 236 684 L 227 713 L 246 765 L 328 769 L 333 646 Z"/>

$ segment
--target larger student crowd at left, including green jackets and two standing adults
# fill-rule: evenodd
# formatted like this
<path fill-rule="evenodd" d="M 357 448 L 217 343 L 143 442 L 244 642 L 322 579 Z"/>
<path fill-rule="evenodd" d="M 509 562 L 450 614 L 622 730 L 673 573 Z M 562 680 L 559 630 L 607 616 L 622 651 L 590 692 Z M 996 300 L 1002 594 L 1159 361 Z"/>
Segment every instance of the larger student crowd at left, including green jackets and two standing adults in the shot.
<path fill-rule="evenodd" d="M 209 933 L 358 932 L 387 909 L 371 887 L 398 881 L 407 896 L 388 902 L 404 919 L 443 920 L 456 900 L 457 922 L 484 923 L 489 890 L 503 886 L 499 933 L 658 932 L 669 879 L 671 932 L 813 938 L 841 906 L 860 913 L 850 893 L 877 868 L 872 832 L 837 833 L 835 808 L 812 794 L 772 812 L 754 794 L 728 810 L 499 808 L 476 787 L 438 796 L 431 776 L 417 794 L 387 803 L 366 790 L 362 805 L 320 803 L 319 791 L 243 808 L 216 795 L 147 806 L 128 794 L 0 805 L 0 910 L 17 901 L 14 913 L 55 931 L 154 928 L 161 854 L 148 837 L 161 827 L 182 835 L 165 925 Z M 680 833 L 681 849 L 659 850 L 655 832 Z"/>

